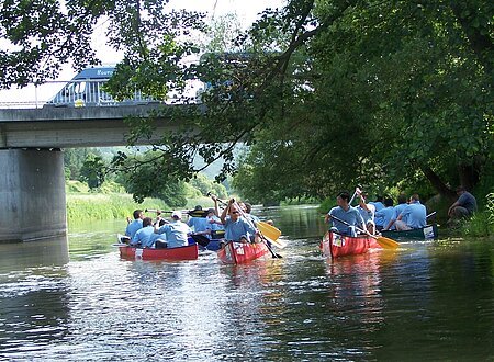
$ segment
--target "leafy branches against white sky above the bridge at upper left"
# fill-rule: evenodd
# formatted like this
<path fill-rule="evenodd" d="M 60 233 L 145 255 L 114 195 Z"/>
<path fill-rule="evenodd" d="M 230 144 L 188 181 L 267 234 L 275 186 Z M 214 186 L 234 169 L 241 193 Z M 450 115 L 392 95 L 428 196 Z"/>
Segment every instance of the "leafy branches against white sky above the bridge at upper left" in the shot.
<path fill-rule="evenodd" d="M 136 83 L 146 94 L 162 95 L 170 81 L 164 70 L 181 69 L 177 54 L 195 50 L 192 44 L 176 45 L 173 39 L 204 26 L 201 14 L 168 11 L 167 4 L 168 0 L 4 1 L 0 8 L 0 89 L 42 83 L 69 61 L 79 70 L 99 64 L 91 35 L 104 22 L 109 45 L 124 53 L 115 76 L 127 88 L 120 94 Z M 154 80 L 149 88 L 138 81 L 146 77 Z"/>

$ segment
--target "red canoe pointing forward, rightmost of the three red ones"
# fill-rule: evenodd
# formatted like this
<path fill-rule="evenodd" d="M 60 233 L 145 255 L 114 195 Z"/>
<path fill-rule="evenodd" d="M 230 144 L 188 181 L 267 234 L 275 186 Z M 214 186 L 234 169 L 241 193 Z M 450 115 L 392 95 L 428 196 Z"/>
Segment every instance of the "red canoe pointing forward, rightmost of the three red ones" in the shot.
<path fill-rule="evenodd" d="M 350 237 L 332 231 L 326 233 L 319 246 L 323 254 L 332 258 L 364 253 L 369 248 L 379 247 L 373 238 L 366 235 Z"/>

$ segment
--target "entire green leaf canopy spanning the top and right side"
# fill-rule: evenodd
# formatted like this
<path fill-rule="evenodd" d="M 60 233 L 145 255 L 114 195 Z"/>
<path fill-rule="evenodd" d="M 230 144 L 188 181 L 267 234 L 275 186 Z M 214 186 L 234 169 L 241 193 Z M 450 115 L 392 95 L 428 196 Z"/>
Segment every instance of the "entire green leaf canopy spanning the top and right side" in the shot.
<path fill-rule="evenodd" d="M 158 116 L 179 127 L 149 158 L 113 165 L 146 174 L 134 177 L 146 192 L 192 179 L 205 167 L 198 158 L 223 161 L 218 179 L 238 172 L 236 188 L 257 200 L 425 180 L 426 193 L 449 195 L 494 177 L 492 1 L 290 0 L 229 43 L 211 42 L 214 52 L 200 46 L 211 31 L 204 18 L 166 11 L 167 1 L 75 1 L 68 12 L 9 3 L 1 30 L 18 48 L 0 52 L 2 87 L 46 79 L 69 57 L 96 63 L 89 36 L 106 16 L 110 44 L 124 52 L 109 90 L 175 103 L 128 120 L 131 145 L 155 132 Z M 198 80 L 203 90 L 187 94 Z M 239 144 L 248 150 L 235 159 Z"/>

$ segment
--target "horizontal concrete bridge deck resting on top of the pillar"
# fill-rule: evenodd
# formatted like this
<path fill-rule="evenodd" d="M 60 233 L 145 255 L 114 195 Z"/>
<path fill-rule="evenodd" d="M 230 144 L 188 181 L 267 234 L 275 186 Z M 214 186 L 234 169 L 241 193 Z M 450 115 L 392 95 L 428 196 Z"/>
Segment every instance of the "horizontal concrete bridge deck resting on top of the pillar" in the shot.
<path fill-rule="evenodd" d="M 145 116 L 160 106 L 120 105 L 94 108 L 43 108 L 0 110 L 0 148 L 70 148 L 125 146 L 128 116 Z M 141 145 L 157 140 L 171 126 L 158 118 L 156 139 L 142 139 Z"/>

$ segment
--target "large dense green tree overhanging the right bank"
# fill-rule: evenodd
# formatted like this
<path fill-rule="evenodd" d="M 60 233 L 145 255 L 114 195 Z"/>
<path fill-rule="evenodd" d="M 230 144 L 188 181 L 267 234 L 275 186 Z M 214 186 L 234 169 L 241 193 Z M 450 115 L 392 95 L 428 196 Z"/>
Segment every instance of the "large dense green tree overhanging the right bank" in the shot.
<path fill-rule="evenodd" d="M 338 184 L 413 180 L 416 170 L 445 195 L 459 182 L 475 185 L 493 155 L 492 66 L 485 58 L 492 55 L 492 4 L 462 5 L 464 16 L 475 12 L 478 19 L 476 30 L 465 30 L 454 2 L 329 3 L 313 9 L 318 26 L 291 43 L 311 35 L 304 46 L 314 61 L 304 78 L 307 91 L 291 100 L 285 125 L 278 126 L 290 142 L 263 133 L 263 144 L 252 147 L 252 172 L 238 177 L 254 189 L 263 186 L 262 177 L 289 179 L 319 196 Z M 482 52 L 469 32 L 483 34 Z"/>

